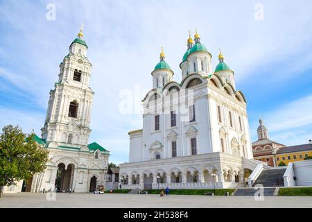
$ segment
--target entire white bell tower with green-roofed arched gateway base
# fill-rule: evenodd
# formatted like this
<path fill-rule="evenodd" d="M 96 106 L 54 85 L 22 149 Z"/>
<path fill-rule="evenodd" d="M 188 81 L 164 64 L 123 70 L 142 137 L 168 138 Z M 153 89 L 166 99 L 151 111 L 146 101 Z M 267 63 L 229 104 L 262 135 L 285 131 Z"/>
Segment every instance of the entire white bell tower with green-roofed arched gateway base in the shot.
<path fill-rule="evenodd" d="M 42 137 L 35 140 L 49 151 L 44 173 L 25 183 L 24 191 L 89 192 L 105 186 L 110 152 L 96 142 L 89 144 L 94 92 L 89 87 L 92 64 L 83 28 L 60 63 L 55 89 L 50 91 Z"/>

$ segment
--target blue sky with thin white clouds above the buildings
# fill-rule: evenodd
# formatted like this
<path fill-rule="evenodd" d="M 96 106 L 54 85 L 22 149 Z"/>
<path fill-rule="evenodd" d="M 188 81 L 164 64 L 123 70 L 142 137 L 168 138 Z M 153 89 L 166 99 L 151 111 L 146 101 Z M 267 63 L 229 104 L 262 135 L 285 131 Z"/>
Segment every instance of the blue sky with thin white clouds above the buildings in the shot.
<path fill-rule="evenodd" d="M 52 21 L 48 3 L 55 5 Z M 263 20 L 254 19 L 257 3 Z M 89 142 L 107 147 L 110 161 L 126 162 L 128 131 L 141 128 L 142 119 L 119 112 L 119 93 L 152 87 L 160 46 L 180 81 L 188 31 L 198 28 L 214 67 L 221 48 L 235 71 L 252 140 L 261 115 L 270 139 L 305 144 L 312 139 L 311 11 L 308 0 L 0 1 L 0 127 L 18 124 L 40 135 L 58 65 L 84 22 L 96 93 Z"/>

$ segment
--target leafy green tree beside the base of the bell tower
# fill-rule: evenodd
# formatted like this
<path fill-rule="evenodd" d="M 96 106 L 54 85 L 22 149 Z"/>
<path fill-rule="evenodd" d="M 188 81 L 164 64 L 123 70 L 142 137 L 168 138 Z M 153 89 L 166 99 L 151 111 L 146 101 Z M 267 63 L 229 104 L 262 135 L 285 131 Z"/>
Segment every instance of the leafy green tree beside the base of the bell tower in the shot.
<path fill-rule="evenodd" d="M 18 126 L 4 126 L 0 135 L 0 198 L 4 186 L 27 180 L 43 172 L 49 152 L 34 140 L 35 134 L 24 134 Z"/>

